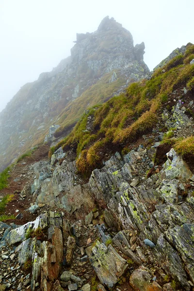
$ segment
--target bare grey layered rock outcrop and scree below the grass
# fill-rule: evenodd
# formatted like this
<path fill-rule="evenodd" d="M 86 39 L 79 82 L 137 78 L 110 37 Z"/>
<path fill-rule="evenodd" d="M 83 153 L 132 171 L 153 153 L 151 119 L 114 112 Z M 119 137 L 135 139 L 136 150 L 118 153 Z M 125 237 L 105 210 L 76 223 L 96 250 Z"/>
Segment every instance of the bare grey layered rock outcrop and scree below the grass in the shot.
<path fill-rule="evenodd" d="M 173 100 L 179 94 L 173 92 Z M 31 162 L 31 187 L 18 195 L 33 201 L 28 211 L 39 214 L 23 226 L 16 225 L 22 218 L 0 223 L 1 290 L 193 290 L 193 169 L 158 142 L 164 126 L 174 138 L 194 131 L 186 107 L 173 102 L 172 113 L 164 110 L 151 133 L 128 154 L 116 152 L 88 183 L 71 152 L 63 162 L 60 151 L 52 164 Z M 24 177 L 18 177 L 20 183 Z"/>

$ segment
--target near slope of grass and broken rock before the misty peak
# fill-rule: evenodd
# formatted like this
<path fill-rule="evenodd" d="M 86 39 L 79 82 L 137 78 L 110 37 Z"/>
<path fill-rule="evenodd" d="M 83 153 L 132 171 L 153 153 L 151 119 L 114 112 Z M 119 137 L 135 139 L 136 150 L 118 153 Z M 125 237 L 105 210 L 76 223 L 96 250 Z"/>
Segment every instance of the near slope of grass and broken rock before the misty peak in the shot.
<path fill-rule="evenodd" d="M 163 63 L 1 173 L 0 290 L 194 291 L 194 45 Z"/>

